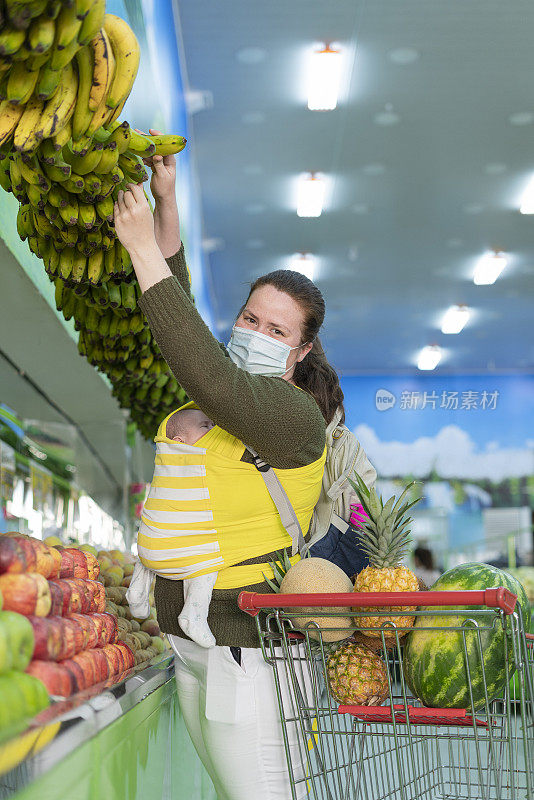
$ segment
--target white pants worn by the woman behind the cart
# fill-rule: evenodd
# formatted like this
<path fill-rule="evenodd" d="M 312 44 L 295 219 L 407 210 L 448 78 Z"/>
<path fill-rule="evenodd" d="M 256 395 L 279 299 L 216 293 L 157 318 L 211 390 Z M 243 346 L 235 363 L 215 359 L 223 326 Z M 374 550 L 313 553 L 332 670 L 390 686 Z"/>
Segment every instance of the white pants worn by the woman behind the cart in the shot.
<path fill-rule="evenodd" d="M 229 647 L 209 650 L 168 636 L 175 651 L 178 699 L 195 749 L 219 800 L 291 800 L 291 787 L 273 668 L 259 648 L 241 648 L 241 665 Z M 280 671 L 284 706 L 289 690 Z M 308 684 L 303 676 L 299 683 Z M 309 691 L 309 686 L 302 686 Z M 299 800 L 308 797 L 301 754 L 306 742 L 288 726 Z M 299 749 L 300 744 L 300 749 Z"/>

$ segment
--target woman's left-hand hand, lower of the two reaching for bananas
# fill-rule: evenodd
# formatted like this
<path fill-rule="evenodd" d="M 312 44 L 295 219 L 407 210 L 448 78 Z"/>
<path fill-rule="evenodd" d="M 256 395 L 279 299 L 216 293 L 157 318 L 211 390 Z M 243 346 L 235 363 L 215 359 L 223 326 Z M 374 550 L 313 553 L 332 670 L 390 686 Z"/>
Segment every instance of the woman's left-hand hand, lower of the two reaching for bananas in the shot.
<path fill-rule="evenodd" d="M 154 248 L 154 219 L 142 184 L 129 183 L 125 192 L 121 189 L 114 219 L 117 236 L 130 255 Z"/>

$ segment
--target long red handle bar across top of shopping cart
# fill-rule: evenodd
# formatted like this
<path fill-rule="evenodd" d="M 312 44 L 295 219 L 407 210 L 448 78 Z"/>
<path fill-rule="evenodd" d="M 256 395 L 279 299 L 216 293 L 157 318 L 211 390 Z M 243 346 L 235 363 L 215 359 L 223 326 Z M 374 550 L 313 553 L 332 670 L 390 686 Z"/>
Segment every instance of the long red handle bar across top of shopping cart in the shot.
<path fill-rule="evenodd" d="M 241 592 L 241 611 L 251 617 L 265 608 L 389 608 L 390 606 L 485 606 L 513 614 L 517 596 L 509 589 L 469 590 L 465 592 L 348 592 L 345 594 L 257 594 Z"/>

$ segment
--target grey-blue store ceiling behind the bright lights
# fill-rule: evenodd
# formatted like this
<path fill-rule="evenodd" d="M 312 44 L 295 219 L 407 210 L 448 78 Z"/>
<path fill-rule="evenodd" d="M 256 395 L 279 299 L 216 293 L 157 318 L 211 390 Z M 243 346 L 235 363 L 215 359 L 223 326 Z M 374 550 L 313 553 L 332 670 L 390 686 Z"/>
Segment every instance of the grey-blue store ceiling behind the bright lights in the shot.
<path fill-rule="evenodd" d="M 534 220 L 517 210 L 534 173 L 531 0 L 178 5 L 190 89 L 213 95 L 192 139 L 221 337 L 246 283 L 306 251 L 342 373 L 413 370 L 430 343 L 447 348 L 442 371 L 532 370 Z M 331 112 L 306 107 L 320 41 L 348 51 Z M 295 179 L 311 170 L 331 190 L 320 218 L 300 219 Z M 475 286 L 493 247 L 509 266 Z M 454 303 L 474 313 L 445 336 Z"/>

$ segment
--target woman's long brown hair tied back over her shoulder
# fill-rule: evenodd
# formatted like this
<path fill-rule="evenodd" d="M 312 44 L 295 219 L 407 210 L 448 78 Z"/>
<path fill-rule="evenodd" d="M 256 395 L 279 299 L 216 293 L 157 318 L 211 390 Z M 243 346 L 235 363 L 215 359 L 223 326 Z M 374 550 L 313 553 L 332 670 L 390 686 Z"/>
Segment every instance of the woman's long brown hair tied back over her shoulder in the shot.
<path fill-rule="evenodd" d="M 344 422 L 345 409 L 339 378 L 335 369 L 328 363 L 318 336 L 325 315 L 325 303 L 321 292 L 313 281 L 301 272 L 277 269 L 262 275 L 252 284 L 247 302 L 252 292 L 261 286 L 274 286 L 278 291 L 292 297 L 302 308 L 304 312 L 302 344 L 313 342 L 313 347 L 295 367 L 293 381 L 315 399 L 327 425 L 340 407 L 341 422 Z"/>

